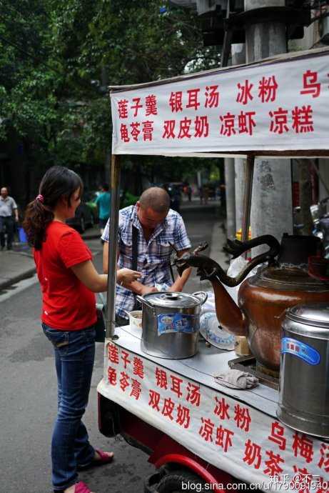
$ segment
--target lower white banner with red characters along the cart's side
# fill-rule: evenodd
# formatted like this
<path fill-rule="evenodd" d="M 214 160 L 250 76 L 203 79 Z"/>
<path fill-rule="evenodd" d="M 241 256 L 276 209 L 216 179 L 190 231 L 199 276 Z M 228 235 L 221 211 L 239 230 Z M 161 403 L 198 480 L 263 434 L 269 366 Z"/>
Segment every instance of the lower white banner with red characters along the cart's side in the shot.
<path fill-rule="evenodd" d="M 328 443 L 113 342 L 105 358 L 101 393 L 198 457 L 262 491 L 329 492 Z"/>

